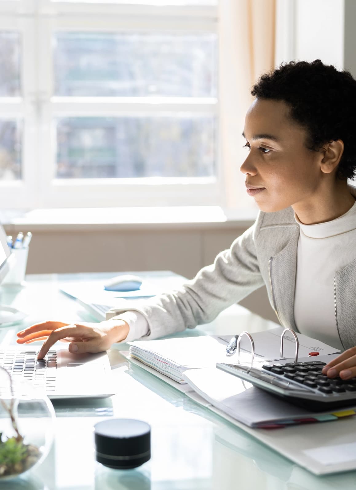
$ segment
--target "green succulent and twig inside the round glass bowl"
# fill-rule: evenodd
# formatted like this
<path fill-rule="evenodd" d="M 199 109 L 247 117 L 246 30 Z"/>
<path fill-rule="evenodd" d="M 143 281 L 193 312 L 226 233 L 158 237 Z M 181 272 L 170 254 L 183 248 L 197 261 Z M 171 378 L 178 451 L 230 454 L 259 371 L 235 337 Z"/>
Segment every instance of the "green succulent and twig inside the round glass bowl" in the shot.
<path fill-rule="evenodd" d="M 0 369 L 5 371 L 10 378 L 11 392 L 11 399 L 8 405 L 3 399 L 0 399 L 0 402 L 4 410 L 9 414 L 11 425 L 16 433 L 15 437 L 7 438 L 6 441 L 3 440 L 2 433 L 0 433 L 0 477 L 2 477 L 23 473 L 40 459 L 41 452 L 38 447 L 24 443 L 24 438 L 19 432 L 14 413 L 15 397 L 12 378 L 6 369 L 1 367 Z"/>

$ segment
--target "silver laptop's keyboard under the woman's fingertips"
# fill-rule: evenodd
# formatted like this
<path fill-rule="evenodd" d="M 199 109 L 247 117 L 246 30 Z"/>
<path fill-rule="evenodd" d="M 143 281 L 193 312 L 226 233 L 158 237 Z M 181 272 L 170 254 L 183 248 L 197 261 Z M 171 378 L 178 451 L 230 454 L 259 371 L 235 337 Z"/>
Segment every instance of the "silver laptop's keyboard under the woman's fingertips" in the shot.
<path fill-rule="evenodd" d="M 50 350 L 44 359 L 38 360 L 40 349 L 0 349 L 0 366 L 13 379 L 25 379 L 37 388 L 54 392 L 56 384 L 57 352 Z"/>

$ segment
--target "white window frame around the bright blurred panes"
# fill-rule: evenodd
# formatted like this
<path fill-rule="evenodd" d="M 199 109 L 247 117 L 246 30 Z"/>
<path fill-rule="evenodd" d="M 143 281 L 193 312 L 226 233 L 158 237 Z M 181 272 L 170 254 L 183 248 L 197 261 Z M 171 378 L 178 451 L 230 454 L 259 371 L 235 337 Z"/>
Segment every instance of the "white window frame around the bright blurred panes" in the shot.
<path fill-rule="evenodd" d="M 28 1 L 28 0 L 25 0 Z M 20 3 L 19 3 L 20 2 Z M 22 4 L 19 1 L 5 3 Z M 30 0 L 27 14 L 7 19 L 24 35 L 23 95 L 25 114 L 22 182 L 0 182 L 0 203 L 13 208 L 221 205 L 223 179 L 219 124 L 216 175 L 195 178 L 56 179 L 54 118 L 194 112 L 219 118 L 217 98 L 62 98 L 53 97 L 52 33 L 55 31 L 161 31 L 217 34 L 217 7 L 155 7 L 123 4 L 66 3 Z M 1 2 L 0 2 L 1 8 Z M 7 6 L 8 8 L 8 6 Z M 83 15 L 85 9 L 85 15 Z M 78 15 L 78 14 L 82 15 Z M 100 15 L 98 15 L 100 14 Z M 120 14 L 113 18 L 112 14 Z M 5 25 L 0 22 L 1 26 Z M 36 33 L 36 35 L 35 35 Z M 29 39 L 32 36 L 32 39 Z M 25 42 L 26 37 L 26 42 Z M 30 55 L 30 49 L 32 54 Z M 217 55 L 219 63 L 219 53 Z M 219 69 L 217 66 L 217 77 Z M 217 80 L 219 83 L 219 80 Z M 20 102 L 19 102 L 20 103 Z M 8 104 L 6 104 L 8 105 Z M 12 104 L 13 105 L 13 104 Z M 19 108 L 20 106 L 18 106 Z M 179 109 L 178 109 L 179 107 Z M 0 100 L 0 109 L 3 109 Z M 12 199 L 11 199 L 12 196 Z M 14 202 L 9 206 L 8 202 Z"/>

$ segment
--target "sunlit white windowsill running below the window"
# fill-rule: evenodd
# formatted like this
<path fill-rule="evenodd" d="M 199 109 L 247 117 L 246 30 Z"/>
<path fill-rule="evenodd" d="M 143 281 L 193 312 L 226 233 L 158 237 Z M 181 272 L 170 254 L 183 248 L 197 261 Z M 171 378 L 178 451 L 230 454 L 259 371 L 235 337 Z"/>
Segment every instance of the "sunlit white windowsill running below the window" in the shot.
<path fill-rule="evenodd" d="M 256 209 L 226 211 L 219 206 L 68 208 L 7 210 L 0 221 L 14 230 L 93 230 L 142 228 L 246 227 L 257 216 Z"/>

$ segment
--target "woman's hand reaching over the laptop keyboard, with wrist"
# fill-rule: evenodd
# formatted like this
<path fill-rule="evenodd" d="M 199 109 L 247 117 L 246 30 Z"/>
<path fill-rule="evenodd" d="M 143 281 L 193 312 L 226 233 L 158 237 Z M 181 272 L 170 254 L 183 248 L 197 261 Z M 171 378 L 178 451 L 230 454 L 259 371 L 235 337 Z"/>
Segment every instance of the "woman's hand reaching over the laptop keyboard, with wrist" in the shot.
<path fill-rule="evenodd" d="M 44 340 L 37 359 L 43 359 L 57 341 L 69 342 L 69 352 L 102 352 L 115 342 L 126 339 L 129 326 L 124 320 L 110 319 L 100 323 L 63 323 L 44 321 L 17 333 L 17 343 Z"/>

